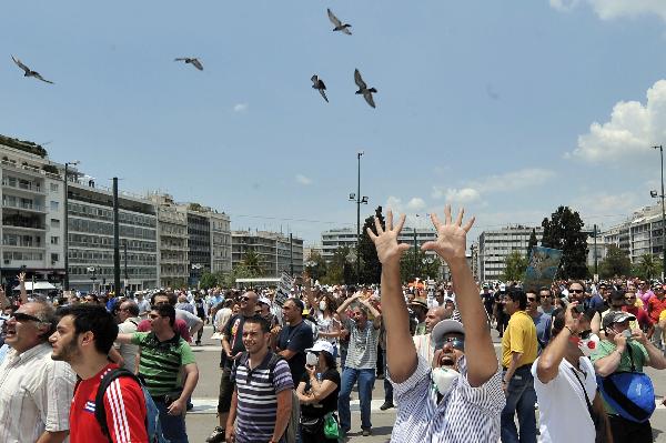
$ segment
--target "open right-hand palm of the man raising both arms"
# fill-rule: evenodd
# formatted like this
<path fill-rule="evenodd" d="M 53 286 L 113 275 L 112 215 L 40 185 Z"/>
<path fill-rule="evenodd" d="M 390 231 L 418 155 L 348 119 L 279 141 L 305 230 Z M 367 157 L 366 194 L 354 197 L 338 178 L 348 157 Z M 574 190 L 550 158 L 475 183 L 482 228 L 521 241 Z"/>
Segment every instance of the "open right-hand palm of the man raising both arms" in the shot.
<path fill-rule="evenodd" d="M 421 249 L 424 251 L 435 251 L 442 259 L 465 260 L 465 249 L 467 248 L 467 232 L 474 224 L 474 218 L 463 224 L 465 210 L 461 209 L 455 222 L 451 218 L 451 205 L 444 208 L 444 223 L 440 221 L 436 214 L 431 214 L 433 225 L 437 231 L 437 240 L 425 242 Z"/>

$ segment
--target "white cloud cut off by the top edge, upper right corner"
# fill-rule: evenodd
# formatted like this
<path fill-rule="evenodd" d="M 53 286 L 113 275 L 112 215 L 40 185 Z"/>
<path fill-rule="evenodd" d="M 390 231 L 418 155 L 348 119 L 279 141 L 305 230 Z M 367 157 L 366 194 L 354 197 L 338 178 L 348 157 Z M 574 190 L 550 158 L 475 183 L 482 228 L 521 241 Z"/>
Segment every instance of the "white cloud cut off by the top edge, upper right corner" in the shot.
<path fill-rule="evenodd" d="M 666 21 L 666 2 L 664 0 L 549 0 L 549 2 L 554 9 L 559 11 L 571 11 L 579 3 L 585 2 L 602 20 L 656 14 Z"/>

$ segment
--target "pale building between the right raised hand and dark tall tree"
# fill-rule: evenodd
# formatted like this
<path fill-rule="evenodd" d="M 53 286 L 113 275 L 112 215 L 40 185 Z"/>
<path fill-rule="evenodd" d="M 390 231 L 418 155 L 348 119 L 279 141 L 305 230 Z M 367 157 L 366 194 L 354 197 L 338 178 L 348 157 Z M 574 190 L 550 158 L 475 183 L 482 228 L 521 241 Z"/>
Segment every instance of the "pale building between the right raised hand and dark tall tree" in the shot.
<path fill-rule="evenodd" d="M 532 230 L 541 242 L 542 226 L 508 225 L 503 229 L 483 231 L 478 236 L 478 278 L 483 281 L 501 280 L 505 260 L 513 251 L 527 255 L 527 245 Z"/>

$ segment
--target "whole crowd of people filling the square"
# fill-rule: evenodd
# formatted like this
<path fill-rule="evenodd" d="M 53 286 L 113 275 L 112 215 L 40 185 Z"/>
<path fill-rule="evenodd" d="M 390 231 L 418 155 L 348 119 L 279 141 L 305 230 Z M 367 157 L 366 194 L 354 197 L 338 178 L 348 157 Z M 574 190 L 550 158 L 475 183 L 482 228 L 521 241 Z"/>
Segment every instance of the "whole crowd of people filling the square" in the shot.
<path fill-rule="evenodd" d="M 0 441 L 186 442 L 192 346 L 209 323 L 221 354 L 208 442 L 337 442 L 354 386 L 360 434 L 372 435 L 377 379 L 381 410 L 396 410 L 392 442 L 652 442 L 643 370 L 666 369 L 666 284 L 480 284 L 465 258 L 473 222 L 433 215 L 437 240 L 423 249 L 452 273 L 435 288 L 401 282 L 408 246 L 391 212 L 369 230 L 380 285 L 304 275 L 286 300 L 268 288 L 44 299 L 20 275 L 16 298 L 0 291 Z"/>

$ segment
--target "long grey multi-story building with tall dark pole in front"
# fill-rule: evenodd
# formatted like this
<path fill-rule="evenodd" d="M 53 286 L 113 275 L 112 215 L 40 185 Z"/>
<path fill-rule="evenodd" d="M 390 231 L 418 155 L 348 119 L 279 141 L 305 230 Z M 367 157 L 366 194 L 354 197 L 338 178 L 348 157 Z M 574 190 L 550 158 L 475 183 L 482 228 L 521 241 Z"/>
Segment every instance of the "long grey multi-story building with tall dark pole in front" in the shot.
<path fill-rule="evenodd" d="M 70 174 L 68 200 L 70 288 L 112 290 L 113 193 Z M 129 291 L 157 288 L 155 207 L 142 197 L 120 192 L 118 208 L 121 284 Z"/>

